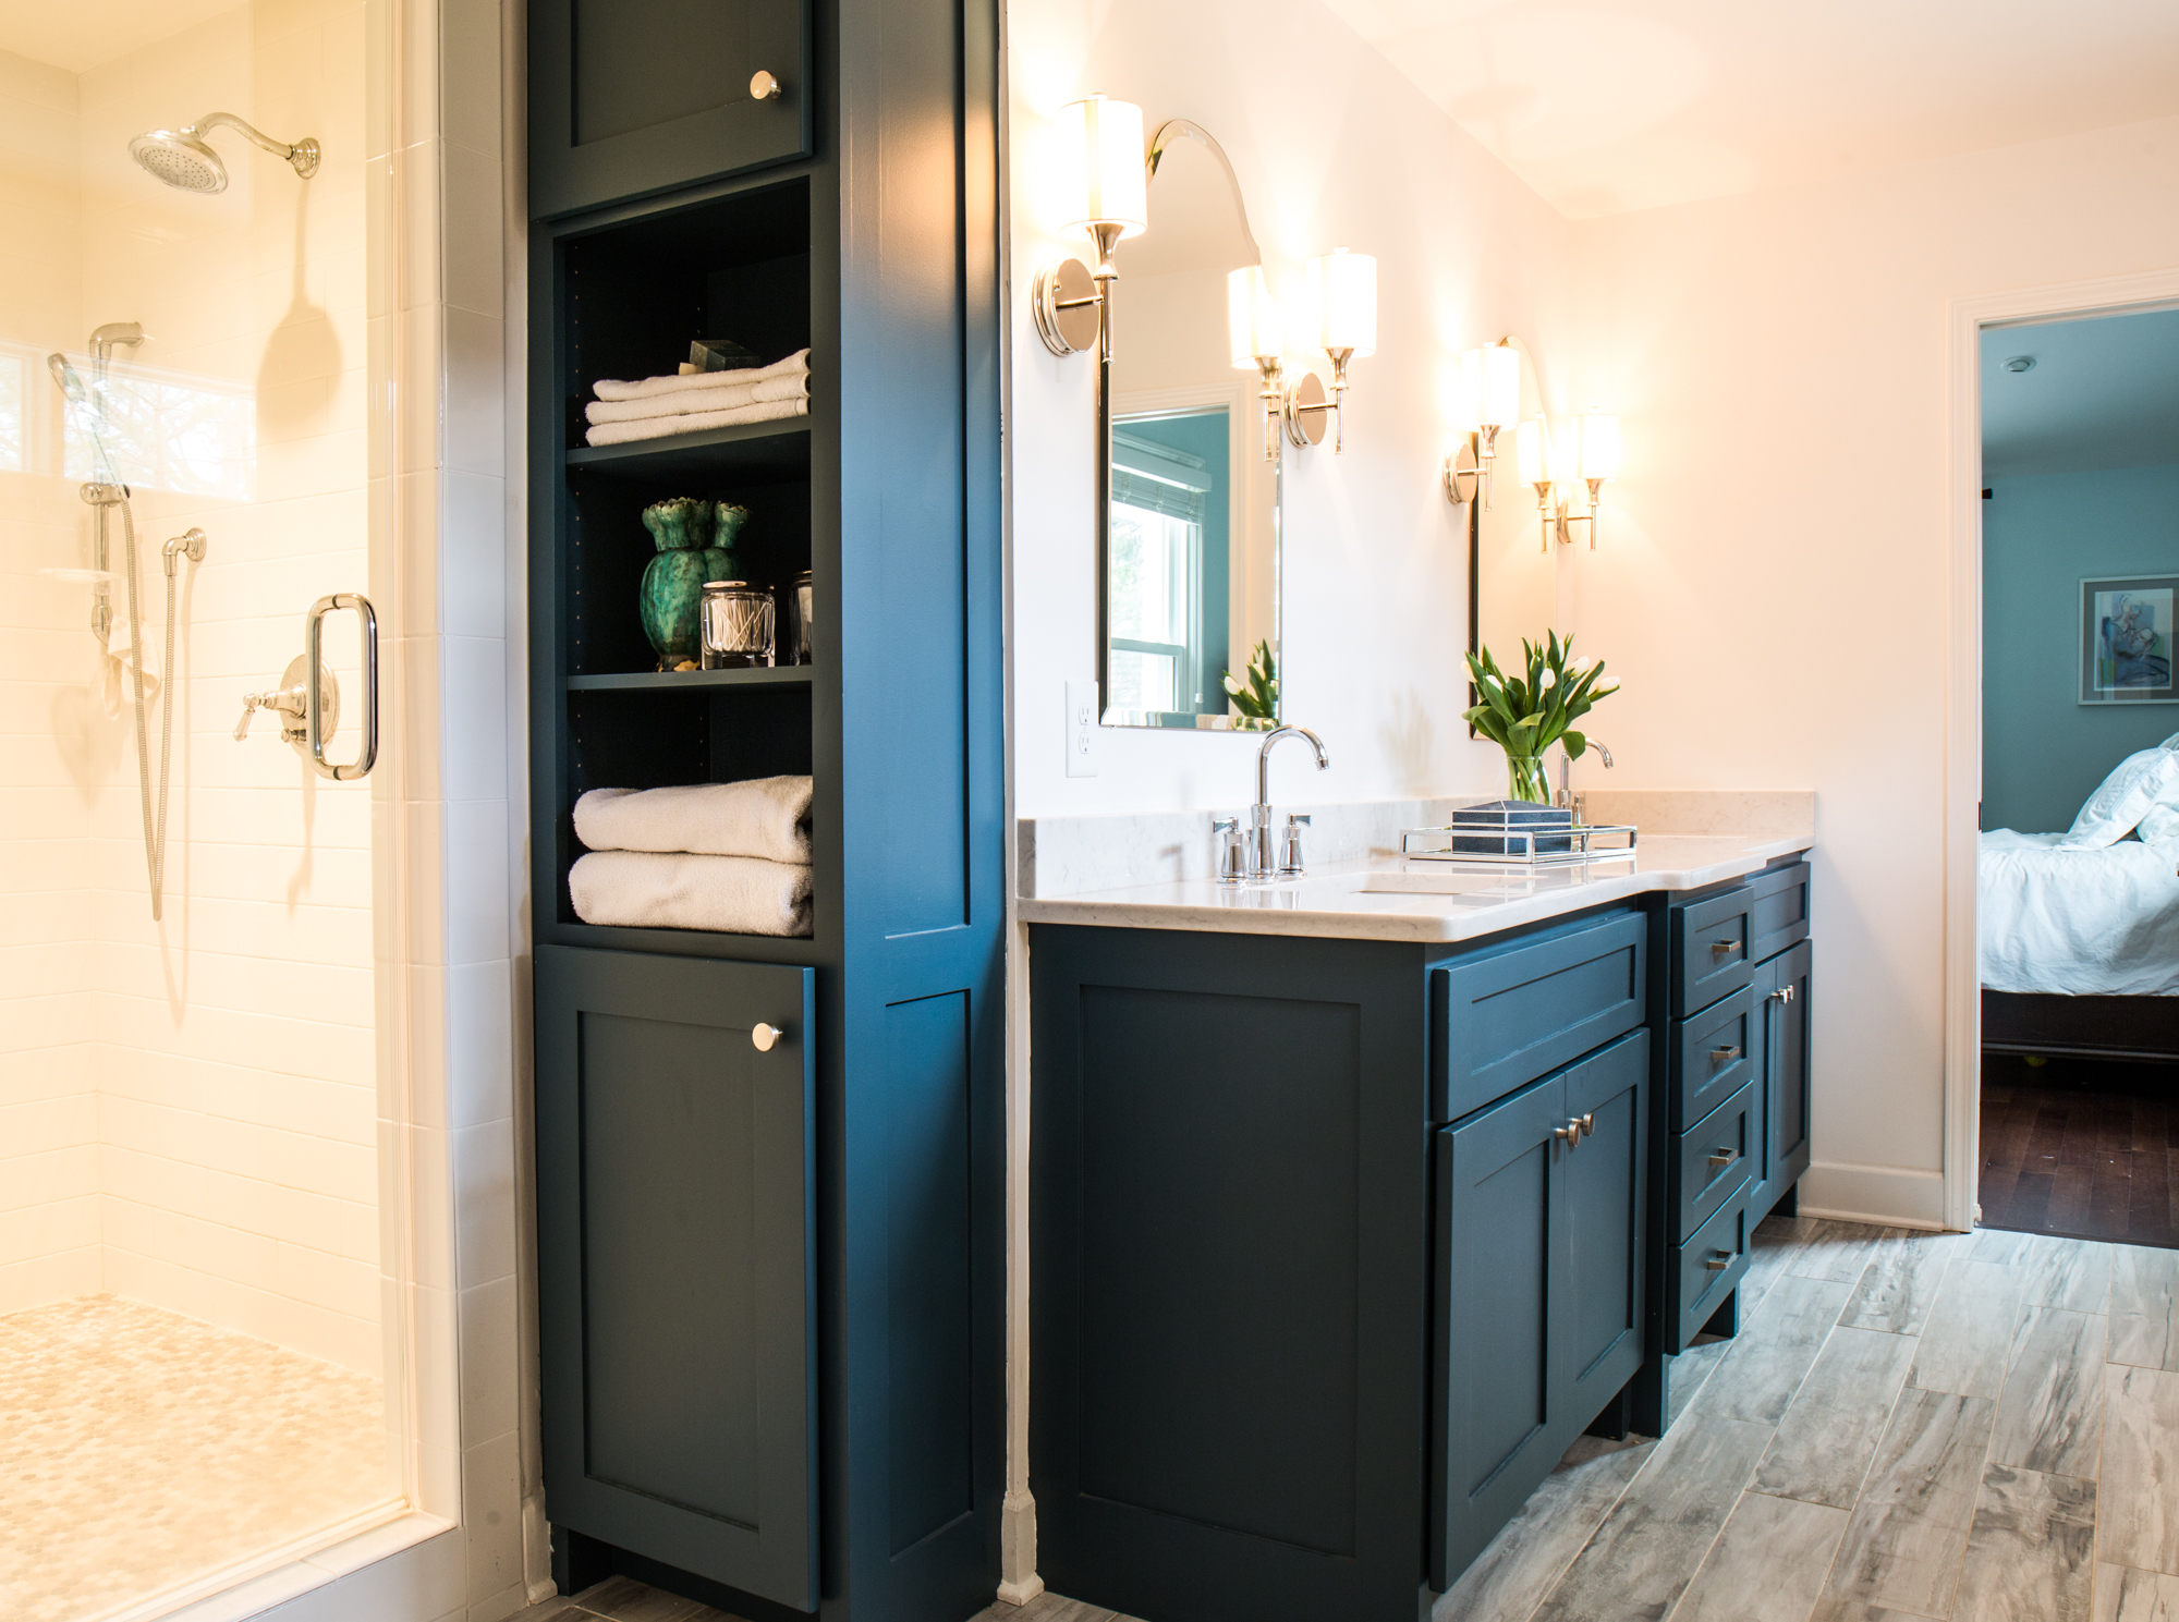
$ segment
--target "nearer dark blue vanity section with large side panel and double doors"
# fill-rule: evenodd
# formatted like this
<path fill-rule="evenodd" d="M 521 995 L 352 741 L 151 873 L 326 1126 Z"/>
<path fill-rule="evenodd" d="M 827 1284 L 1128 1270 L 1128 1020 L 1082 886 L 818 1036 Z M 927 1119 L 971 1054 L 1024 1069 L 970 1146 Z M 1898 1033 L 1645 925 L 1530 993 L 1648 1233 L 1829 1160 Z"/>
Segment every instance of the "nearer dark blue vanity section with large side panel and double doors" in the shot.
<path fill-rule="evenodd" d="M 1643 1363 L 1650 927 L 1031 931 L 1046 1585 L 1412 1622 Z"/>

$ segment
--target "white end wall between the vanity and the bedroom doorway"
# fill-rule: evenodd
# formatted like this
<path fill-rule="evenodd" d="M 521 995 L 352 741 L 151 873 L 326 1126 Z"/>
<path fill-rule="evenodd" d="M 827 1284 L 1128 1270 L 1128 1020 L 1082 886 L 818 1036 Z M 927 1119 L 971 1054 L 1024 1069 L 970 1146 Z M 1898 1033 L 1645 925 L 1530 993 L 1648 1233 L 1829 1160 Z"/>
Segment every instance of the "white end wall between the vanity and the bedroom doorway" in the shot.
<path fill-rule="evenodd" d="M 1946 299 L 2175 266 L 2175 196 L 2162 120 L 1575 227 L 1612 787 L 1817 791 L 1813 1206 L 1939 1214 Z"/>

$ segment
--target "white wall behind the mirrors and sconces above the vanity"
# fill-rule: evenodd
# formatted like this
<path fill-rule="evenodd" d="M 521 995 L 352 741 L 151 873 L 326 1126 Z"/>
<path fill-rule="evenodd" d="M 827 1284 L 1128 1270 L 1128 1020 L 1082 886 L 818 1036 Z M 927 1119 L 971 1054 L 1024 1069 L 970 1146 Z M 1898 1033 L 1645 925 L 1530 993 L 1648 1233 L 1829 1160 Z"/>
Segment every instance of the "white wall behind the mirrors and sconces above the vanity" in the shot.
<path fill-rule="evenodd" d="M 1325 737 L 1331 772 L 1303 776 L 1288 754 L 1275 794 L 1493 789 L 1495 750 L 1460 722 L 1466 528 L 1438 488 L 1449 377 L 1462 349 L 1510 331 L 1543 358 L 1571 347 L 1571 227 L 1316 0 L 1037 0 L 1007 26 L 1015 813 L 1253 798 L 1246 737 L 1109 730 L 1100 776 L 1066 776 L 1063 682 L 1094 674 L 1092 362 L 1044 349 L 1026 288 L 1044 259 L 1087 255 L 1052 235 L 1044 187 L 1048 120 L 1087 92 L 1140 102 L 1148 129 L 1188 118 L 1218 137 L 1290 329 L 1310 257 L 1377 255 L 1379 353 L 1353 362 L 1347 451 L 1288 451 L 1286 475 L 1286 713 Z M 1299 344 L 1288 364 L 1329 377 Z"/>

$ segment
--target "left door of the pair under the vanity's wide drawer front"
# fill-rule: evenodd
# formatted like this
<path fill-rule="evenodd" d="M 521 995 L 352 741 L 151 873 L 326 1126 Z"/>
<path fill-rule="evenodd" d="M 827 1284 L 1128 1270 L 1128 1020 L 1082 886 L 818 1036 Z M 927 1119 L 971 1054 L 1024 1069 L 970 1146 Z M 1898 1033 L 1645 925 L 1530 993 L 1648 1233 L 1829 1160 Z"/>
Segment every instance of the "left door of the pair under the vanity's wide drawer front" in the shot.
<path fill-rule="evenodd" d="M 1558 1463 L 1565 1077 L 1438 1131 L 1429 1581 L 1445 1589 Z"/>

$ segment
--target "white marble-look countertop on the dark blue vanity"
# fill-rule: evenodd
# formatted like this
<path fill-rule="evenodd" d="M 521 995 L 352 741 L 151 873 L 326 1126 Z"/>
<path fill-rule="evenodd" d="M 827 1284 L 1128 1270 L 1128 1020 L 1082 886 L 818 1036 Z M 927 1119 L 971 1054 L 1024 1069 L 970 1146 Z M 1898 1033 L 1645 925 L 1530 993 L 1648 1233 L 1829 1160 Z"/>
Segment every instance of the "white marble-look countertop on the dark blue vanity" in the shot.
<path fill-rule="evenodd" d="M 1639 837 L 1632 859 L 1599 857 L 1565 868 L 1371 857 L 1325 863 L 1301 879 L 1266 885 L 1177 879 L 1072 896 L 1024 896 L 1015 907 L 1031 924 L 1453 942 L 1652 889 L 1702 889 L 1813 846 L 1813 833 L 1650 833 Z"/>

